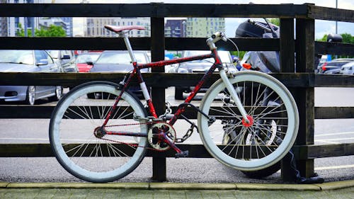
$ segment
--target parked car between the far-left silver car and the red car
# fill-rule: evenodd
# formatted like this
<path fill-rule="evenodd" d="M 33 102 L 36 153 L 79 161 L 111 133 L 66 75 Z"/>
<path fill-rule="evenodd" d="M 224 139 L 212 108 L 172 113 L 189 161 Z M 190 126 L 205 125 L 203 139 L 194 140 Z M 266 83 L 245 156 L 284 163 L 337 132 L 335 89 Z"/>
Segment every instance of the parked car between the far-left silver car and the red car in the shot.
<path fill-rule="evenodd" d="M 62 66 L 62 72 L 79 72 L 75 64 L 74 51 L 72 50 L 47 50 L 55 59 L 55 62 L 58 62 Z"/>

